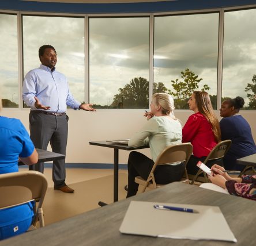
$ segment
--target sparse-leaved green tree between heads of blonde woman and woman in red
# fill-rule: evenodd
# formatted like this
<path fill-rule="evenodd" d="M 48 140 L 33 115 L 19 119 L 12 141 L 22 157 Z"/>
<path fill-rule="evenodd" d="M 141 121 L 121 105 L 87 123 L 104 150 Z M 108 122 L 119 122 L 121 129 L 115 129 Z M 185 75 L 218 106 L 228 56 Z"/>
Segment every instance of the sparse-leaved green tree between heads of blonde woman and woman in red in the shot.
<path fill-rule="evenodd" d="M 181 71 L 182 80 L 171 80 L 174 90 L 168 90 L 168 93 L 175 98 L 175 105 L 177 109 L 187 109 L 187 100 L 193 91 L 198 90 L 198 83 L 202 78 L 198 79 L 198 75 L 186 68 L 185 71 Z M 202 91 L 210 90 L 207 84 L 204 84 Z"/>

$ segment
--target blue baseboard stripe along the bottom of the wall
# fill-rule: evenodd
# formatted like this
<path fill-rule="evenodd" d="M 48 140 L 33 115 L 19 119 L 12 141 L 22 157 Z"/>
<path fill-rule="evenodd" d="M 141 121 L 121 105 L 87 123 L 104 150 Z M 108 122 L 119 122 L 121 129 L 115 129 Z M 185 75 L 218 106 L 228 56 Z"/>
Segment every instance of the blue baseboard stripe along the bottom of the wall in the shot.
<path fill-rule="evenodd" d="M 45 168 L 52 168 L 52 163 L 44 163 Z M 127 170 L 127 164 L 119 164 L 119 169 Z M 27 165 L 18 166 L 18 168 L 28 168 Z M 66 168 L 87 168 L 87 169 L 113 169 L 111 163 L 66 163 Z"/>

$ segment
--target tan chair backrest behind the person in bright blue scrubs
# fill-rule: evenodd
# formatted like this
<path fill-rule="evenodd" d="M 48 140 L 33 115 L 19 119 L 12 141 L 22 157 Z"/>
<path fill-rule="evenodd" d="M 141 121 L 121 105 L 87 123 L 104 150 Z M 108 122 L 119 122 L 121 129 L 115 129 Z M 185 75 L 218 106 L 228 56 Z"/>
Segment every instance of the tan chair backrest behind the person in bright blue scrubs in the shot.
<path fill-rule="evenodd" d="M 0 174 L 0 209 L 39 200 L 42 207 L 47 190 L 47 180 L 37 171 Z"/>

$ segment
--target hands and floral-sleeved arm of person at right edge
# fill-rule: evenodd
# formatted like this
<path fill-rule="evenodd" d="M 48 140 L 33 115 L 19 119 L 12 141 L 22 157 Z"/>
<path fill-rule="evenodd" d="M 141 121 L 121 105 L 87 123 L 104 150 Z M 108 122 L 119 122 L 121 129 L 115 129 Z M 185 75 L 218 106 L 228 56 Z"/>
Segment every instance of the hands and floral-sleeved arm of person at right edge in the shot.
<path fill-rule="evenodd" d="M 256 175 L 243 175 L 232 178 L 224 167 L 214 164 L 211 168 L 213 176 L 208 178 L 213 184 L 228 190 L 229 194 L 256 200 Z"/>

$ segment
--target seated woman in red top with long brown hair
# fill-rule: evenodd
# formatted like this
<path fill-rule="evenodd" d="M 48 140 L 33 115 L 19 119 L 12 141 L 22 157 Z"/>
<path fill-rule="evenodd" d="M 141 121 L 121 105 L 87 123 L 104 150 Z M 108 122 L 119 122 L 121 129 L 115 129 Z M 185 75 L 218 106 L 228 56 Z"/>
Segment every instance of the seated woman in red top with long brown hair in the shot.
<path fill-rule="evenodd" d="M 193 145 L 193 155 L 187 163 L 187 172 L 195 175 L 198 161 L 204 162 L 210 151 L 221 141 L 221 133 L 208 93 L 194 91 L 187 103 L 194 114 L 182 129 L 182 143 L 190 142 Z"/>

